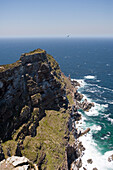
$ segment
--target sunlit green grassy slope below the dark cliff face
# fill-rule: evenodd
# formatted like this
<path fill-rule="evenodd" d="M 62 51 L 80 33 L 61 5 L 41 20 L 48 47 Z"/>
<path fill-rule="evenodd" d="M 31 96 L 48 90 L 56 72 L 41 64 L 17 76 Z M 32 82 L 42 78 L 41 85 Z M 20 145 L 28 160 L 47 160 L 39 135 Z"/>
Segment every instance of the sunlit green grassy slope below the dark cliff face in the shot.
<path fill-rule="evenodd" d="M 35 163 L 39 163 L 41 157 L 46 155 L 42 167 L 46 166 L 48 170 L 61 166 L 65 157 L 68 118 L 68 113 L 46 111 L 46 117 L 37 127 L 37 136 L 25 138 L 23 155 Z"/>

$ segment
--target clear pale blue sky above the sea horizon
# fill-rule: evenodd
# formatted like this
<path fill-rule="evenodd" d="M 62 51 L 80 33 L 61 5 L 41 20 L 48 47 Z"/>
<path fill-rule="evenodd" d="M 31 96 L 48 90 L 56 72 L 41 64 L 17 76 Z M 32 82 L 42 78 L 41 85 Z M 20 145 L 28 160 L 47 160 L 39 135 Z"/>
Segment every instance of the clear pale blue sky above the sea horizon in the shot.
<path fill-rule="evenodd" d="M 0 0 L 0 37 L 112 36 L 113 0 Z"/>

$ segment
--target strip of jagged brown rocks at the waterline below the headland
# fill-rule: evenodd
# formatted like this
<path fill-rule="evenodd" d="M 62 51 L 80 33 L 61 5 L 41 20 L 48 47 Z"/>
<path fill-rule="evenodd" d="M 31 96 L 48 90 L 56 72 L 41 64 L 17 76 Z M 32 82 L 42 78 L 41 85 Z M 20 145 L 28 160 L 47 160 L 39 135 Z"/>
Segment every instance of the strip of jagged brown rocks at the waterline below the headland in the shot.
<path fill-rule="evenodd" d="M 80 168 L 86 170 L 85 167 L 82 165 L 82 156 L 83 151 L 85 150 L 85 147 L 83 146 L 82 142 L 79 141 L 79 137 L 87 134 L 90 131 L 90 128 L 87 128 L 86 130 L 82 131 L 80 129 L 77 129 L 76 125 L 78 122 L 82 119 L 81 114 L 78 112 L 79 109 L 82 109 L 84 111 L 89 111 L 92 107 L 94 107 L 94 103 L 89 103 L 87 99 L 83 99 L 83 95 L 81 93 L 78 93 L 77 88 L 80 87 L 79 82 L 76 80 L 71 80 L 72 85 L 74 86 L 74 105 L 72 106 L 72 113 L 71 113 L 71 122 L 72 122 L 72 132 L 75 138 L 75 148 L 76 148 L 76 159 L 71 164 L 70 169 L 71 170 L 78 170 Z M 87 163 L 91 164 L 92 159 L 88 159 Z M 97 168 L 93 168 L 93 170 L 97 170 Z"/>

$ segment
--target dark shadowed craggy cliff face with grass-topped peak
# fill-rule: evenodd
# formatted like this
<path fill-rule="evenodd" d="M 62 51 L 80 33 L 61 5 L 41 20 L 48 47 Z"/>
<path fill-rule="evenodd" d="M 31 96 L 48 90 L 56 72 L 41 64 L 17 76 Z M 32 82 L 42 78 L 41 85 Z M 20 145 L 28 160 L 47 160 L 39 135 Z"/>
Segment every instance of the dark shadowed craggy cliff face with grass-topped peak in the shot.
<path fill-rule="evenodd" d="M 0 138 L 3 141 L 11 139 L 26 122 L 24 134 L 35 136 L 33 129 L 44 117 L 45 110 L 59 110 L 67 105 L 59 65 L 44 50 L 23 54 L 16 63 L 0 67 Z M 16 140 L 25 135 L 18 134 Z"/>

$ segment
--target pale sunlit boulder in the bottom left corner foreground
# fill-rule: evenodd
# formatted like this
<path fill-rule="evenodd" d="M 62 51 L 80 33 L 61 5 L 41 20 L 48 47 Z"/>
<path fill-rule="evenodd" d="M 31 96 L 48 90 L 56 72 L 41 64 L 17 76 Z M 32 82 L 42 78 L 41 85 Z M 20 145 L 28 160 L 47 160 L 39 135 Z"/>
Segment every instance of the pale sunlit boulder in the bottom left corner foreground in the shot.
<path fill-rule="evenodd" d="M 0 162 L 2 170 L 38 170 L 35 164 L 29 161 L 26 157 L 12 156 Z"/>

